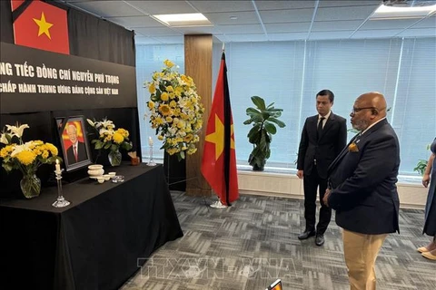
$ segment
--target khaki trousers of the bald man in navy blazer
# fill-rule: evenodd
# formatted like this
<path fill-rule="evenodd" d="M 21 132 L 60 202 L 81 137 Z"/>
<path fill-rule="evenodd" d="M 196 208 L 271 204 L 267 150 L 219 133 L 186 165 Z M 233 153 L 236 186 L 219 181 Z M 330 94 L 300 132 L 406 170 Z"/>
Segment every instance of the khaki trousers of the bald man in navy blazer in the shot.
<path fill-rule="evenodd" d="M 387 236 L 364 235 L 343 229 L 343 254 L 351 290 L 375 290 L 375 260 Z"/>

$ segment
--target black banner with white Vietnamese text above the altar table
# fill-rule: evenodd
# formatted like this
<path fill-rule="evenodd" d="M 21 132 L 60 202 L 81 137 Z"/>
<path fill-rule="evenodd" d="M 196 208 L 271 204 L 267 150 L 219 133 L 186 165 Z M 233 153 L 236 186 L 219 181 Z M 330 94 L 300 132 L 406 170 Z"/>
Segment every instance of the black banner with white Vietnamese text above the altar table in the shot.
<path fill-rule="evenodd" d="M 133 66 L 0 43 L 0 111 L 136 107 Z"/>

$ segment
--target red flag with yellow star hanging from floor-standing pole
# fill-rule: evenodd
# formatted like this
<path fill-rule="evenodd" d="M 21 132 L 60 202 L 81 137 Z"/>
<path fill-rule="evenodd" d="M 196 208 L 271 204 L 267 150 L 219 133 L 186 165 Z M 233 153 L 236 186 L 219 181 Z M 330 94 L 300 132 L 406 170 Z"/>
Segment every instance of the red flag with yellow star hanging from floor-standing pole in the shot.
<path fill-rule="evenodd" d="M 224 205 L 230 206 L 239 198 L 233 118 L 224 52 L 207 122 L 202 173 Z"/>

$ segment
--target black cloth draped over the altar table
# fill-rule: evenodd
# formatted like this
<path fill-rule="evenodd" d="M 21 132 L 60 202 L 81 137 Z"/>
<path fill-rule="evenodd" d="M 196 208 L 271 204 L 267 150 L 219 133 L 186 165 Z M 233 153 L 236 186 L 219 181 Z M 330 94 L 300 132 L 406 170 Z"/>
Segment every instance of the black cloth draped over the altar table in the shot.
<path fill-rule="evenodd" d="M 0 289 L 117 289 L 183 237 L 162 166 L 124 165 L 122 183 L 81 179 L 30 200 L 0 199 Z"/>

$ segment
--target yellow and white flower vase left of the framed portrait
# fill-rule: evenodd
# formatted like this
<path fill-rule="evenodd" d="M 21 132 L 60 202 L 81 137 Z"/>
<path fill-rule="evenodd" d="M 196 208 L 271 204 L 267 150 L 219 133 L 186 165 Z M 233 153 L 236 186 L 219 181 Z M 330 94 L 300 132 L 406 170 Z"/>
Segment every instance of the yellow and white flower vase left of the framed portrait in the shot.
<path fill-rule="evenodd" d="M 23 132 L 29 128 L 27 124 L 6 125 L 0 136 L 5 147 L 0 150 L 3 168 L 9 172 L 19 169 L 23 173 L 20 187 L 25 198 L 35 198 L 41 192 L 41 180 L 36 177 L 36 169 L 42 164 L 51 164 L 60 160 L 58 150 L 52 143 L 42 140 L 23 142 Z M 17 140 L 17 142 L 14 142 Z"/>

